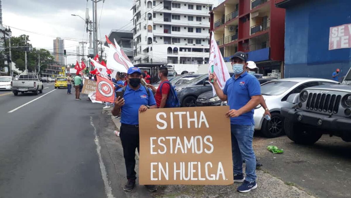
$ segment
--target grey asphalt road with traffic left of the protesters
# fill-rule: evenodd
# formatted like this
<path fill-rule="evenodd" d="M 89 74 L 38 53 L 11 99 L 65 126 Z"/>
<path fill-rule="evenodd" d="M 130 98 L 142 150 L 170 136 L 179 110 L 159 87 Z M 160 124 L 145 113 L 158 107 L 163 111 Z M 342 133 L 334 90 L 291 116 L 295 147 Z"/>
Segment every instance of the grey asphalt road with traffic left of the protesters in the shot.
<path fill-rule="evenodd" d="M 67 95 L 54 83 L 44 88 L 37 96 L 0 91 L 0 198 L 106 197 L 91 125 L 101 104 L 75 101 L 73 89 Z"/>

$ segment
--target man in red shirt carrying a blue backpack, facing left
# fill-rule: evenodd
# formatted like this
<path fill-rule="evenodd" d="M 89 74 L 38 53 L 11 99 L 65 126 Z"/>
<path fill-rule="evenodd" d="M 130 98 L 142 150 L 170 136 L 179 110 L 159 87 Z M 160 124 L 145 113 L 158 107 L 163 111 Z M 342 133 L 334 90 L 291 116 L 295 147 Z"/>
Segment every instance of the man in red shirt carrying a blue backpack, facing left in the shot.
<path fill-rule="evenodd" d="M 147 84 L 147 87 L 151 88 L 153 92 L 156 92 L 155 94 L 155 100 L 156 100 L 156 105 L 157 108 L 164 108 L 167 98 L 168 98 L 168 94 L 170 93 L 170 84 L 168 79 L 167 79 L 167 75 L 168 75 L 168 69 L 166 66 L 162 66 L 160 68 L 160 70 L 158 71 L 158 77 L 161 79 L 161 83 L 158 86 L 158 88 L 156 89 L 155 87 L 153 87 L 151 84 Z M 168 83 L 164 83 L 164 82 L 168 82 Z M 161 90 L 161 84 L 162 84 L 162 90 Z"/>

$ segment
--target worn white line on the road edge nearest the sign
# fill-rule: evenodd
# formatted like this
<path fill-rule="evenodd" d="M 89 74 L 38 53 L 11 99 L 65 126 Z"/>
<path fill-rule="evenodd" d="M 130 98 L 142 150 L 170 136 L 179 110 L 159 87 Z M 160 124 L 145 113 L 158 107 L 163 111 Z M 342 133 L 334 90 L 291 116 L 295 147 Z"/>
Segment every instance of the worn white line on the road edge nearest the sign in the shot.
<path fill-rule="evenodd" d="M 96 144 L 96 151 L 97 151 L 98 156 L 99 156 L 100 171 L 101 171 L 102 180 L 104 180 L 105 193 L 106 193 L 107 198 L 114 198 L 113 194 L 112 194 L 112 189 L 111 189 L 111 186 L 110 186 L 110 182 L 108 181 L 108 178 L 107 178 L 107 172 L 106 172 L 106 168 L 105 168 L 105 165 L 104 165 L 104 161 L 102 161 L 102 157 L 101 157 L 101 153 L 100 153 L 101 146 L 100 146 L 100 142 L 99 142 L 99 139 L 98 139 L 98 135 L 96 133 L 96 128 L 94 126 L 93 117 L 92 116 L 90 116 L 90 125 L 93 126 L 93 128 L 94 128 L 94 135 L 95 135 L 94 142 Z"/>

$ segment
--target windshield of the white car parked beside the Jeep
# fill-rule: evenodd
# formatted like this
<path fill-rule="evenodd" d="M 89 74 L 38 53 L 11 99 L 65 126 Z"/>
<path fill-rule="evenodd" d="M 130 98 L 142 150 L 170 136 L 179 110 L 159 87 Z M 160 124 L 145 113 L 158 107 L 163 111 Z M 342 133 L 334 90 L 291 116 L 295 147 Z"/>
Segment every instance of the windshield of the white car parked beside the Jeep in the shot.
<path fill-rule="evenodd" d="M 293 87 L 297 82 L 293 81 L 271 81 L 261 85 L 261 94 L 267 96 L 278 96 Z"/>

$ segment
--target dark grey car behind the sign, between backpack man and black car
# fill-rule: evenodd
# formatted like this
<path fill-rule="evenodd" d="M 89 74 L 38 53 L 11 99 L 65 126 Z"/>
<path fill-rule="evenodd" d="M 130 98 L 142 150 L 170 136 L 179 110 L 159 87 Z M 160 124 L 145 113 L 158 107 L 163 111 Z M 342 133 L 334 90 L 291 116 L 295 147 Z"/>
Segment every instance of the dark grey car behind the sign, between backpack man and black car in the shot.
<path fill-rule="evenodd" d="M 211 91 L 208 75 L 201 74 L 185 84 L 176 85 L 176 91 L 181 107 L 195 107 L 196 99 L 204 92 Z"/>

